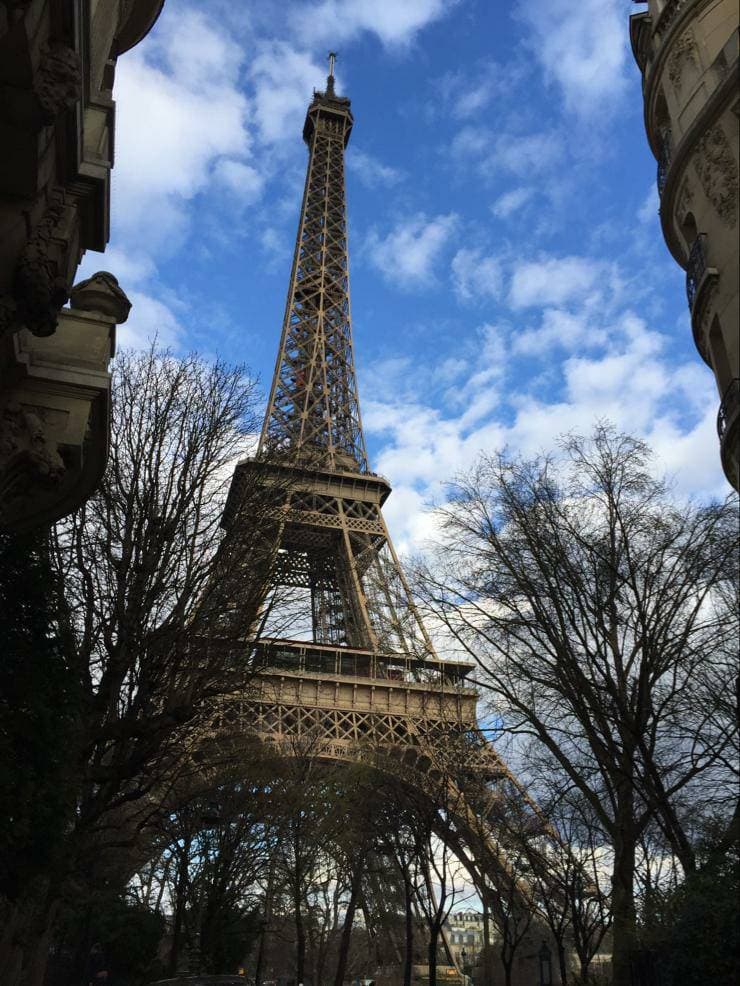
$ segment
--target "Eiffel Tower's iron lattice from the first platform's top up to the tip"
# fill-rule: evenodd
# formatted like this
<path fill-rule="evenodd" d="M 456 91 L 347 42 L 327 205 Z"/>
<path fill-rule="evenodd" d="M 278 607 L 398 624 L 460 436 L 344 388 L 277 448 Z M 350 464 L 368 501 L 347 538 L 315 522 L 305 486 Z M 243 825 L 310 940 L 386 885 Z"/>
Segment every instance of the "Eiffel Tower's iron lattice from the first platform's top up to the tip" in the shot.
<path fill-rule="evenodd" d="M 257 456 L 275 486 L 286 489 L 276 513 L 273 585 L 309 600 L 315 643 L 430 657 L 431 641 L 383 520 L 390 485 L 370 472 L 362 432 L 344 180 L 352 125 L 350 101 L 335 94 L 330 74 L 303 129 L 306 184 Z M 227 523 L 253 468 L 237 467 Z"/>

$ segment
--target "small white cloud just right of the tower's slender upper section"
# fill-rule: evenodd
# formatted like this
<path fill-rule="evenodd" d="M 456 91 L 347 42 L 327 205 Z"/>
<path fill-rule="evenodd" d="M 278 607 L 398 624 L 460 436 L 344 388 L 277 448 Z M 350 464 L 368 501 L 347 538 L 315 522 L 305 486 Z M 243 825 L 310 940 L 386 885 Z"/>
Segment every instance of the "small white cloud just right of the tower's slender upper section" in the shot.
<path fill-rule="evenodd" d="M 399 223 L 385 237 L 371 230 L 367 255 L 387 280 L 400 287 L 428 284 L 457 224 L 454 213 L 431 219 L 419 214 Z"/>

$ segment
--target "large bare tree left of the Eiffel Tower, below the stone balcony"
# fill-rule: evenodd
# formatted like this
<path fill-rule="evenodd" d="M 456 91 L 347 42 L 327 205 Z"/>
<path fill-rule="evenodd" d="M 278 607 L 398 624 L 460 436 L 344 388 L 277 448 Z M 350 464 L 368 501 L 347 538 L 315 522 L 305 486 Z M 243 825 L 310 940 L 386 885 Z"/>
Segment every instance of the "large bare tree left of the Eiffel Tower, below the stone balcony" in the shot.
<path fill-rule="evenodd" d="M 125 882 L 142 826 L 192 764 L 212 702 L 246 687 L 272 557 L 275 491 L 255 473 L 220 527 L 233 463 L 257 429 L 243 367 L 152 348 L 119 354 L 110 462 L 51 536 L 54 605 L 79 682 L 68 750 L 74 824 L 32 914 L 3 942 L 0 978 L 37 986 L 64 887 Z"/>

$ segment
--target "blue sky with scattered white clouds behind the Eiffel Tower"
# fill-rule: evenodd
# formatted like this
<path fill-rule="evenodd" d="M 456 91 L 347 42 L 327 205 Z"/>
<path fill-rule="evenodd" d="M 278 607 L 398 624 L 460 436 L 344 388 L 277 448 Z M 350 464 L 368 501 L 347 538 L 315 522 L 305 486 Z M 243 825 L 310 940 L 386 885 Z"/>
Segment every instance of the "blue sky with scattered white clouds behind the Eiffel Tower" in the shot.
<path fill-rule="evenodd" d="M 153 332 L 269 387 L 335 48 L 355 352 L 402 550 L 481 449 L 606 417 L 677 491 L 723 495 L 714 380 L 658 222 L 629 0 L 167 0 L 118 62 L 106 269 Z"/>

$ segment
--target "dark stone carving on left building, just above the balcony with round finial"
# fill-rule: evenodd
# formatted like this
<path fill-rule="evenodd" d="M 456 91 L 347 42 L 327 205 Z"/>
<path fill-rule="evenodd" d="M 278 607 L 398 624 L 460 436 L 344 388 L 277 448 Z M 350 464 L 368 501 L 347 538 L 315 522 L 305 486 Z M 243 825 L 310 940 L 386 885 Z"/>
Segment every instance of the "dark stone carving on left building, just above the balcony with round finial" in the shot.
<path fill-rule="evenodd" d="M 57 227 L 65 225 L 64 220 L 68 218 L 65 213 L 71 208 L 62 189 L 54 189 L 16 267 L 13 293 L 17 319 L 37 336 L 54 333 L 59 309 L 69 297 L 63 274 L 66 266 L 63 252 L 69 248 L 69 240 L 59 237 L 59 246 L 53 241 Z"/>

